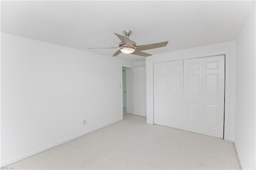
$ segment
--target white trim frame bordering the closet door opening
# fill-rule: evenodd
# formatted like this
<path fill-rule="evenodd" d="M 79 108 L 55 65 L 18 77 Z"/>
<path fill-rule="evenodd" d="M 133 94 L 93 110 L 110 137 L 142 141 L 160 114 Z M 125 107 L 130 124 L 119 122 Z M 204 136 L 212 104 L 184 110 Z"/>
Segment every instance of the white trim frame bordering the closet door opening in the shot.
<path fill-rule="evenodd" d="M 154 63 L 161 63 L 161 62 L 168 62 L 168 61 L 177 61 L 177 60 L 183 60 L 183 59 L 194 59 L 194 58 L 202 58 L 202 57 L 211 57 L 216 55 L 225 55 L 225 95 L 224 95 L 224 140 L 228 140 L 231 142 L 234 142 L 234 139 L 228 138 L 228 128 L 229 128 L 229 51 L 220 51 L 215 53 L 208 53 L 203 55 L 193 55 L 193 56 L 184 56 L 184 57 L 173 57 L 173 58 L 166 58 L 161 59 L 158 61 L 150 61 L 150 65 L 148 65 L 147 73 L 150 72 L 150 86 L 147 86 L 147 105 L 150 105 L 150 112 L 147 108 L 147 124 L 154 125 L 154 93 L 150 92 L 148 93 L 149 89 L 154 90 L 154 72 L 153 72 L 153 65 Z M 146 63 L 147 64 L 147 63 Z M 147 77 L 148 78 L 148 77 Z M 147 83 L 148 85 L 148 83 Z M 149 118 L 149 119 L 148 119 Z"/>

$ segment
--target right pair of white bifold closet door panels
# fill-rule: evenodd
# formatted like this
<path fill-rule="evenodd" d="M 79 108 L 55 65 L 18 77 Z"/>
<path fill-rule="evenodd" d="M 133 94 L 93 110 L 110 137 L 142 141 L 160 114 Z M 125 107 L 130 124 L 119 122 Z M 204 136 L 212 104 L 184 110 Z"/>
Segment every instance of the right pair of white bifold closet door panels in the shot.
<path fill-rule="evenodd" d="M 184 60 L 184 130 L 223 138 L 225 56 Z"/>

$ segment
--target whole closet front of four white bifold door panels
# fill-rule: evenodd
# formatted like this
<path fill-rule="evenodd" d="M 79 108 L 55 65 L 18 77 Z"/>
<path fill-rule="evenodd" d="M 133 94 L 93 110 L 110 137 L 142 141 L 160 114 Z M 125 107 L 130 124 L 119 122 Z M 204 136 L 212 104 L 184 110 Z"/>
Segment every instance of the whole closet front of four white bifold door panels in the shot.
<path fill-rule="evenodd" d="M 154 63 L 154 124 L 223 138 L 225 55 Z"/>

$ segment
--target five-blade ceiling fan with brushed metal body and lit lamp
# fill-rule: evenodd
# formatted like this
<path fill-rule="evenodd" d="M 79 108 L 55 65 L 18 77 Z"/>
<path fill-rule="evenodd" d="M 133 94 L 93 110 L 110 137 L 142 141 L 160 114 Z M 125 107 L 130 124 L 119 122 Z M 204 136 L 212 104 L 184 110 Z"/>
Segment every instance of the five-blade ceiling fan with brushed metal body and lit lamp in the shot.
<path fill-rule="evenodd" d="M 113 57 L 116 57 L 120 53 L 134 54 L 134 55 L 148 57 L 152 54 L 144 53 L 142 51 L 147 49 L 165 47 L 168 43 L 168 42 L 160 42 L 160 43 L 152 43 L 147 45 L 136 45 L 136 42 L 129 39 L 129 36 L 132 34 L 132 31 L 125 30 L 123 33 L 126 37 L 114 32 L 114 34 L 116 34 L 116 36 L 121 40 L 121 42 L 119 43 L 118 47 L 109 47 L 109 48 L 120 48 L 118 49 L 118 51 L 116 51 L 112 55 Z M 88 49 L 93 49 L 93 48 L 88 48 Z"/>

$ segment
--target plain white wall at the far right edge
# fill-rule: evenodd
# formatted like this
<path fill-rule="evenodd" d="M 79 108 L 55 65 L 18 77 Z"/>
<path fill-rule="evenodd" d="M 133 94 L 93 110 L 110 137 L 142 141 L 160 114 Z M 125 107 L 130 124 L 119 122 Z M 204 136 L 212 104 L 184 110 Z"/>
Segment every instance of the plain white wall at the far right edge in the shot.
<path fill-rule="evenodd" d="M 255 169 L 255 8 L 236 42 L 235 144 L 242 168 Z"/>

